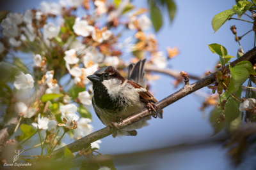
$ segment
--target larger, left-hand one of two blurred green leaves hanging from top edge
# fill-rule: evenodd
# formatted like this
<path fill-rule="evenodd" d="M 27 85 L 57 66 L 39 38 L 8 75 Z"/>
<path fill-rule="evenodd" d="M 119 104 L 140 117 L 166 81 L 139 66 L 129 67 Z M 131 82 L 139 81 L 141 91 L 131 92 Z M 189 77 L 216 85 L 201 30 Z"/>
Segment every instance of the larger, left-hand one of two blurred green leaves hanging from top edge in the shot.
<path fill-rule="evenodd" d="M 150 18 L 155 31 L 156 32 L 159 31 L 159 29 L 163 25 L 163 18 L 162 18 L 161 11 L 156 6 L 156 3 L 154 3 L 154 1 L 151 1 L 151 4 L 150 4 Z"/>

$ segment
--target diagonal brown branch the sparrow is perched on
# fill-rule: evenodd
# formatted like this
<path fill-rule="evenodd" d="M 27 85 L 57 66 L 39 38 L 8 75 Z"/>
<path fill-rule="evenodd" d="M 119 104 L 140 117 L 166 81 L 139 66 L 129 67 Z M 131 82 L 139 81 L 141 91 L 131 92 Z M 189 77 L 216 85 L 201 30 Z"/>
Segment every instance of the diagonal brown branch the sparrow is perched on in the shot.
<path fill-rule="evenodd" d="M 234 67 L 237 64 L 237 62 L 241 62 L 242 60 L 248 60 L 252 62 L 252 64 L 254 65 L 256 63 L 256 47 L 250 50 L 249 52 L 245 53 L 243 57 L 240 57 L 239 59 L 232 62 L 231 66 Z M 201 89 L 202 87 L 210 85 L 212 82 L 214 82 L 215 74 L 216 72 L 209 74 L 208 76 L 205 76 L 201 80 L 198 80 L 191 85 L 186 85 L 182 89 L 175 92 L 174 94 L 168 97 L 165 97 L 164 99 L 156 103 L 157 108 L 161 110 L 166 106 L 169 106 L 170 104 L 175 103 L 175 101 L 178 101 L 179 99 L 182 99 L 183 97 L 188 96 L 192 92 L 195 92 L 196 90 Z M 152 116 L 152 112 L 148 111 L 147 109 L 144 109 L 144 110 L 141 110 L 139 113 L 131 115 L 131 117 L 125 118 L 122 124 L 117 124 L 117 123 L 115 124 L 118 127 L 118 129 L 124 129 L 127 126 L 135 124 L 136 122 L 139 122 L 140 120 L 143 120 L 150 116 Z M 109 136 L 115 131 L 117 130 L 111 129 L 109 126 L 104 127 L 99 131 L 93 132 L 92 134 L 84 136 L 83 138 L 68 144 L 67 148 L 71 152 L 77 152 L 78 150 L 82 150 L 83 148 L 86 148 L 86 146 L 90 145 L 90 143 L 93 143 L 94 141 L 105 138 L 106 136 Z M 65 150 L 65 147 L 59 148 L 58 150 L 54 150 L 54 152 L 52 152 L 50 156 L 54 157 L 54 159 L 58 159 L 61 157 L 61 155 L 63 155 L 64 150 Z"/>

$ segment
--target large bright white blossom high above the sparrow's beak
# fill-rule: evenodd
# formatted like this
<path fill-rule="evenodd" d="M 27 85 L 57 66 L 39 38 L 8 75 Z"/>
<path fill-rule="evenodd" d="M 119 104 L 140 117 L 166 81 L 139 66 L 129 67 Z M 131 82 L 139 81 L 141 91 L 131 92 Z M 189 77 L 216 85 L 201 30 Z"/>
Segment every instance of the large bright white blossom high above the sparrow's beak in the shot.
<path fill-rule="evenodd" d="M 79 17 L 76 18 L 73 29 L 78 36 L 84 37 L 90 36 L 90 34 L 95 30 L 93 26 L 88 25 L 86 20 L 81 20 Z"/>

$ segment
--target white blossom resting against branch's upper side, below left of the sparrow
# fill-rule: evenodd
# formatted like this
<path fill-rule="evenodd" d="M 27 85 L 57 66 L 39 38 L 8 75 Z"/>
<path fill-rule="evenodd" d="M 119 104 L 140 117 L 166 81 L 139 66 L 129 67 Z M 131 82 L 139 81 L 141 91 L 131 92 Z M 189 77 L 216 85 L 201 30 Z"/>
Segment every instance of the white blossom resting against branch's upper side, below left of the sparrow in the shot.
<path fill-rule="evenodd" d="M 75 129 L 74 138 L 81 138 L 92 132 L 93 126 L 90 125 L 92 120 L 90 118 L 80 118 L 77 122 L 77 129 Z"/>

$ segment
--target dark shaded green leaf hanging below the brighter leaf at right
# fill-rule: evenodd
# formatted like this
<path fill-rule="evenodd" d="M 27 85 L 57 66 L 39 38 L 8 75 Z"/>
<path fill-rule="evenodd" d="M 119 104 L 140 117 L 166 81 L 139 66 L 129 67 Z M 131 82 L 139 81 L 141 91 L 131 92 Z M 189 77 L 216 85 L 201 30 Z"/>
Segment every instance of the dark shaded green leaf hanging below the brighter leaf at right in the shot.
<path fill-rule="evenodd" d="M 241 96 L 242 87 L 239 87 L 236 92 L 236 96 Z M 227 103 L 225 104 L 225 121 L 231 122 L 232 120 L 235 120 L 240 115 L 239 111 L 239 105 L 240 101 L 235 101 L 233 97 L 229 97 L 227 100 Z"/>

